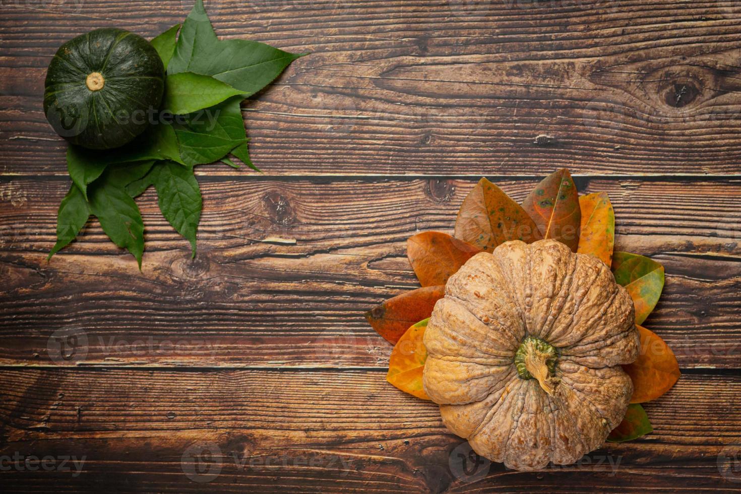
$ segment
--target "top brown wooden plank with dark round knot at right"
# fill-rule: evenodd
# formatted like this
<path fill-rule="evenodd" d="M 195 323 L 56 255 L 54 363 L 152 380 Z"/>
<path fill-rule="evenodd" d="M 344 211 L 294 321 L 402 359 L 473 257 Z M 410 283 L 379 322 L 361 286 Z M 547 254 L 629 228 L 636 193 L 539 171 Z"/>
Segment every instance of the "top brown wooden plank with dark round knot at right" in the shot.
<path fill-rule="evenodd" d="M 155 36 L 186 13 L 176 0 L 48 3 L 7 2 L 0 20 L 5 175 L 65 173 L 40 101 L 62 42 L 106 26 Z M 733 1 L 517 5 L 219 0 L 210 10 L 222 36 L 312 52 L 245 105 L 254 161 L 271 175 L 532 176 L 544 164 L 739 174 Z"/>

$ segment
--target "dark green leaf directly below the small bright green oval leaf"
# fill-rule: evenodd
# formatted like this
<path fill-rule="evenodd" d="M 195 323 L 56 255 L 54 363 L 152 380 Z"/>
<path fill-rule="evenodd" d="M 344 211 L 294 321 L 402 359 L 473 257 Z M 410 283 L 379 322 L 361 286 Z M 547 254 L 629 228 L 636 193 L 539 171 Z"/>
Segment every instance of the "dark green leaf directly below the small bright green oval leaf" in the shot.
<path fill-rule="evenodd" d="M 186 124 L 175 124 L 180 156 L 185 164 L 213 163 L 247 141 L 239 102 L 227 99 L 214 107 L 184 116 Z M 239 157 L 239 156 L 238 156 Z"/>

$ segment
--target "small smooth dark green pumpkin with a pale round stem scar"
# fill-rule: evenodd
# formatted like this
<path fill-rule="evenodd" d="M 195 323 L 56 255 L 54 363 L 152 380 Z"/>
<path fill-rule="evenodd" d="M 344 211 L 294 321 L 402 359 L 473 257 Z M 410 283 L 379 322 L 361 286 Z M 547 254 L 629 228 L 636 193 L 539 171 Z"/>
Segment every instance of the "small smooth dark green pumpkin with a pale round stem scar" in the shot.
<path fill-rule="evenodd" d="M 108 27 L 59 47 L 47 70 L 44 113 L 67 141 L 111 149 L 147 129 L 164 90 L 165 67 L 154 47 Z"/>

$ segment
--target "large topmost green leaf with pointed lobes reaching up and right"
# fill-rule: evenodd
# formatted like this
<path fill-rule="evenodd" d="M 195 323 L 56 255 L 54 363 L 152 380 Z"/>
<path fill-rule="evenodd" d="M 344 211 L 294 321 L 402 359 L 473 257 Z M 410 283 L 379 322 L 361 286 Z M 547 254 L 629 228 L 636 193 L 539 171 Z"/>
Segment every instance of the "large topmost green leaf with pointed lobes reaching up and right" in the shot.
<path fill-rule="evenodd" d="M 290 62 L 301 56 L 258 41 L 219 41 L 208 21 L 203 2 L 198 0 L 183 24 L 167 73 L 206 74 L 250 96 L 270 84 Z"/>

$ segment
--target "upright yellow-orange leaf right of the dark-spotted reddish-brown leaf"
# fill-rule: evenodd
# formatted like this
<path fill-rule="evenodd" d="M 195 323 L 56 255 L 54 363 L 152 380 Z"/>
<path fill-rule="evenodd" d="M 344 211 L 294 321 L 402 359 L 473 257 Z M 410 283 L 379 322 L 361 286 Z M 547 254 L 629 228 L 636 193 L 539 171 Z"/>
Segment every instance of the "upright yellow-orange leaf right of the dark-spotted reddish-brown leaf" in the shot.
<path fill-rule="evenodd" d="M 615 213 L 605 192 L 579 197 L 582 226 L 576 252 L 591 254 L 610 266 L 615 244 Z"/>

